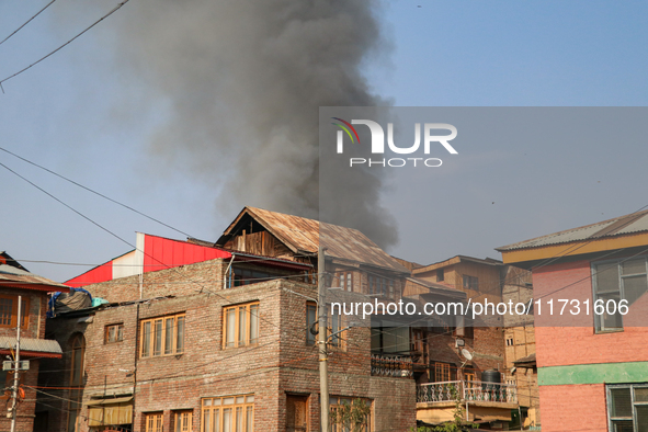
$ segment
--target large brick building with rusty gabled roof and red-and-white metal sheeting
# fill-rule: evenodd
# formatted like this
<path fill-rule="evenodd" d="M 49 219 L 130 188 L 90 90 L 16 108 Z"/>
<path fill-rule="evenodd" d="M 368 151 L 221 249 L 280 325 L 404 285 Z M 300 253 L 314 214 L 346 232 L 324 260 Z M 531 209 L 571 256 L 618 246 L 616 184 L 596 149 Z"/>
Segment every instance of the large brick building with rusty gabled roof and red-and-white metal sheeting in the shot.
<path fill-rule="evenodd" d="M 328 232 L 330 285 L 400 298 L 406 269 L 356 230 Z M 320 234 L 315 220 L 246 207 L 216 245 L 138 235 L 135 251 L 69 281 L 109 303 L 48 322 L 64 346 L 41 376 L 48 430 L 319 430 Z M 349 325 L 329 318 L 330 332 Z M 394 355 L 376 367 L 372 339 L 349 328 L 330 340 L 329 409 L 360 398 L 366 431 L 408 431 L 411 366 Z"/>

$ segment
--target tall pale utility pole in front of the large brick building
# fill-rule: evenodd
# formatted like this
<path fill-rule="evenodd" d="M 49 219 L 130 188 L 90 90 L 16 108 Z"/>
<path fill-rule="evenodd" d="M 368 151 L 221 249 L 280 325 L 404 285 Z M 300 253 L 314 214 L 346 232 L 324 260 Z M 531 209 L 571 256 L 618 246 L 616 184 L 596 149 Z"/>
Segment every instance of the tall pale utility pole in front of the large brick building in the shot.
<path fill-rule="evenodd" d="M 329 431 L 329 366 L 327 353 L 327 303 L 326 303 L 326 248 L 321 246 L 317 252 L 317 315 L 319 331 L 317 333 L 317 343 L 319 345 L 319 394 L 320 394 L 320 414 L 321 432 Z"/>

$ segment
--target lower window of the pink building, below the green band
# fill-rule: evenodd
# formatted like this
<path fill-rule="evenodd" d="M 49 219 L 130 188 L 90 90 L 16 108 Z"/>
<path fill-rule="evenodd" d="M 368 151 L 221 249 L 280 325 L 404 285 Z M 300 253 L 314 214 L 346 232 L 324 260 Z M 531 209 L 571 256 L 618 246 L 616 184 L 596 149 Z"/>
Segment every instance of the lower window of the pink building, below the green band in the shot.
<path fill-rule="evenodd" d="M 611 432 L 648 431 L 648 383 L 609 385 L 606 390 Z"/>

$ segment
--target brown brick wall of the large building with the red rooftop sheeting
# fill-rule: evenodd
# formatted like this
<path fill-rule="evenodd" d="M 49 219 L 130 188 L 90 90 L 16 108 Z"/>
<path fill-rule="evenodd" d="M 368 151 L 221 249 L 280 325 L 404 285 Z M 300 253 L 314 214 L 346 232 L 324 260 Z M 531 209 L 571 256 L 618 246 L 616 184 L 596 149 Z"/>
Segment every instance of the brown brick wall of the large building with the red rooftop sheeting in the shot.
<path fill-rule="evenodd" d="M 204 269 L 205 274 L 213 272 L 209 266 Z M 156 273 L 162 272 L 167 271 Z M 198 273 L 196 277 L 202 276 Z M 95 285 L 94 288 L 107 294 L 115 288 L 114 281 L 105 285 L 107 287 Z M 126 284 L 123 286 L 128 289 Z M 159 289 L 162 284 L 155 286 Z M 169 282 L 168 286 L 174 285 Z M 164 412 L 164 430 L 170 430 L 172 412 L 184 409 L 193 410 L 194 431 L 200 431 L 202 398 L 253 394 L 255 430 L 278 432 L 285 430 L 286 395 L 291 393 L 309 396 L 311 431 L 316 431 L 319 362 L 316 349 L 306 343 L 307 299 L 283 288 L 307 297 L 317 295 L 312 285 L 270 281 L 216 294 L 187 289 L 184 296 L 140 304 L 140 320 L 185 312 L 185 352 L 137 360 L 135 431 L 141 430 L 144 413 L 155 411 Z M 252 300 L 260 302 L 259 345 L 224 349 L 223 307 Z M 43 382 L 52 387 L 69 383 L 68 341 L 75 332 L 82 331 L 87 341 L 83 400 L 104 391 L 109 395 L 132 391 L 135 376 L 128 374 L 135 368 L 137 308 L 137 305 L 106 308 L 96 311 L 92 322 L 79 322 L 78 317 L 50 320 L 50 328 L 66 355 L 64 362 L 50 362 L 48 368 L 66 372 L 45 374 Z M 117 322 L 124 322 L 124 341 L 105 344 L 105 326 Z M 373 399 L 377 430 L 408 431 L 414 425 L 413 380 L 370 375 L 368 329 L 352 329 L 345 338 L 349 340 L 346 348 L 333 349 L 330 355 L 330 394 Z M 65 389 L 52 391 L 68 397 Z M 67 408 L 65 402 L 61 408 L 64 411 Z M 55 411 L 50 410 L 50 431 L 64 431 L 67 414 Z M 81 412 L 86 413 L 86 410 Z M 81 431 L 87 431 L 86 421 Z"/>

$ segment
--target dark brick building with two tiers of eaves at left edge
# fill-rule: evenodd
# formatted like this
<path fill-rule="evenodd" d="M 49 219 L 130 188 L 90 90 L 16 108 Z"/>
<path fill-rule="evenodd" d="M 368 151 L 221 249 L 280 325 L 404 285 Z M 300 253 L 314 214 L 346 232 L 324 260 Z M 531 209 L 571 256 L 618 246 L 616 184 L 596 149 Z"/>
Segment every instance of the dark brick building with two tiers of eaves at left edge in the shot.
<path fill-rule="evenodd" d="M 36 385 L 39 364 L 44 359 L 60 359 L 61 349 L 52 340 L 45 340 L 45 312 L 47 293 L 69 288 L 48 278 L 30 273 L 7 252 L 0 252 L 0 355 L 4 361 L 15 359 L 19 296 L 21 297 L 20 359 L 30 361 L 30 368 L 20 373 L 19 403 L 15 430 L 29 432 L 41 429 L 46 421 L 45 412 L 36 411 Z M 11 407 L 14 374 L 0 371 L 3 391 L 0 399 Z M 11 419 L 0 416 L 0 430 L 9 431 Z"/>

